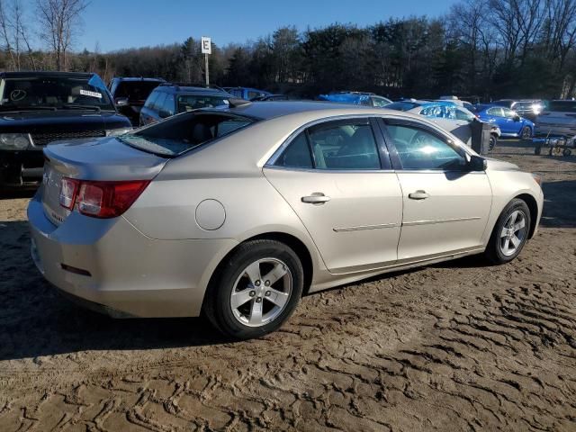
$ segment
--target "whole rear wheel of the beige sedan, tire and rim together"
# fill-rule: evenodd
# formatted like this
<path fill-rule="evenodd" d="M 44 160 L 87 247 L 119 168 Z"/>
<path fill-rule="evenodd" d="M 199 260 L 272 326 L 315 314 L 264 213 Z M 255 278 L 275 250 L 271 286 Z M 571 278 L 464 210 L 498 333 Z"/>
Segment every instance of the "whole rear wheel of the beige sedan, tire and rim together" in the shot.
<path fill-rule="evenodd" d="M 219 273 L 206 293 L 203 312 L 229 338 L 260 338 L 279 329 L 302 297 L 302 263 L 279 241 L 240 245 Z"/>

